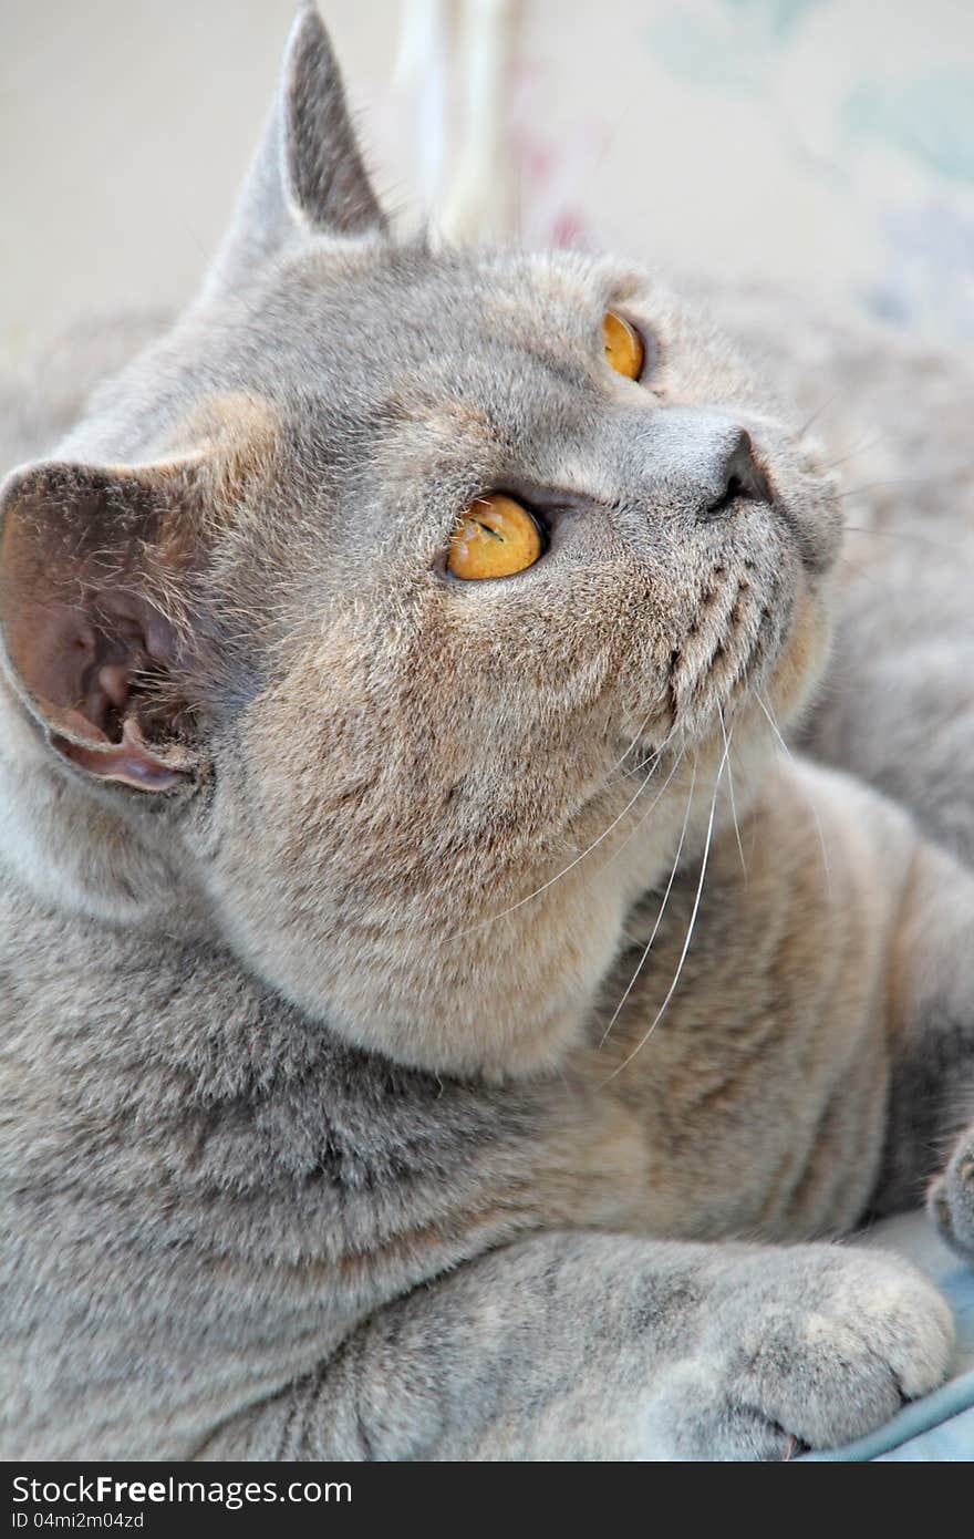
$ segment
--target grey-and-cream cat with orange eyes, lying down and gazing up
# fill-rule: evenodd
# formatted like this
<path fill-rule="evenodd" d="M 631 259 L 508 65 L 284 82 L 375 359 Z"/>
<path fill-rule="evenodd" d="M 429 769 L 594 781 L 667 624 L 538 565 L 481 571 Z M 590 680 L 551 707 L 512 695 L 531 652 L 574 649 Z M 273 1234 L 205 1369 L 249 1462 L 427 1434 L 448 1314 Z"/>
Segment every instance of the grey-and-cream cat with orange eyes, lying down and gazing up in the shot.
<path fill-rule="evenodd" d="M 797 422 L 626 263 L 395 242 L 302 6 L 200 299 L 3 485 L 5 1457 L 779 1459 L 942 1382 L 829 1236 L 932 1179 L 974 1254 L 974 876 L 783 749 L 856 759 Z"/>

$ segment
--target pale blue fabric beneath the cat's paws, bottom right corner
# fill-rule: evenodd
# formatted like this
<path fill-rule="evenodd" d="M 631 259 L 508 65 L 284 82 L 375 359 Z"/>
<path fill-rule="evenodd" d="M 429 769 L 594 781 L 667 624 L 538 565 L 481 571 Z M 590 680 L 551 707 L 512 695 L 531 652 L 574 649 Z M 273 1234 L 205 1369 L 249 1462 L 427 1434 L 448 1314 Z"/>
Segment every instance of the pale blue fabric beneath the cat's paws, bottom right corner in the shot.
<path fill-rule="evenodd" d="M 923 1213 L 877 1224 L 862 1244 L 908 1256 L 946 1296 L 957 1322 L 954 1373 L 940 1390 L 903 1407 L 869 1437 L 806 1454 L 805 1462 L 974 1459 L 974 1268 L 940 1242 Z"/>

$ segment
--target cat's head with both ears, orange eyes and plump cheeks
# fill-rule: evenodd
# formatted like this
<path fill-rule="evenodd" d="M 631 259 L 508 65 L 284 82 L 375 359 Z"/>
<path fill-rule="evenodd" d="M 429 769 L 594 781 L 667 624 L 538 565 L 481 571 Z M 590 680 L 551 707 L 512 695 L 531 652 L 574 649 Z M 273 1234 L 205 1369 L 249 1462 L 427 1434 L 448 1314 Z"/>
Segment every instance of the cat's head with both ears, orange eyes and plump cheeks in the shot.
<path fill-rule="evenodd" d="M 200 302 L 5 486 L 5 669 L 78 839 L 89 805 L 165 850 L 346 1039 L 522 1073 L 702 842 L 728 743 L 746 802 L 837 542 L 800 436 L 655 280 L 397 243 L 303 8 Z"/>

